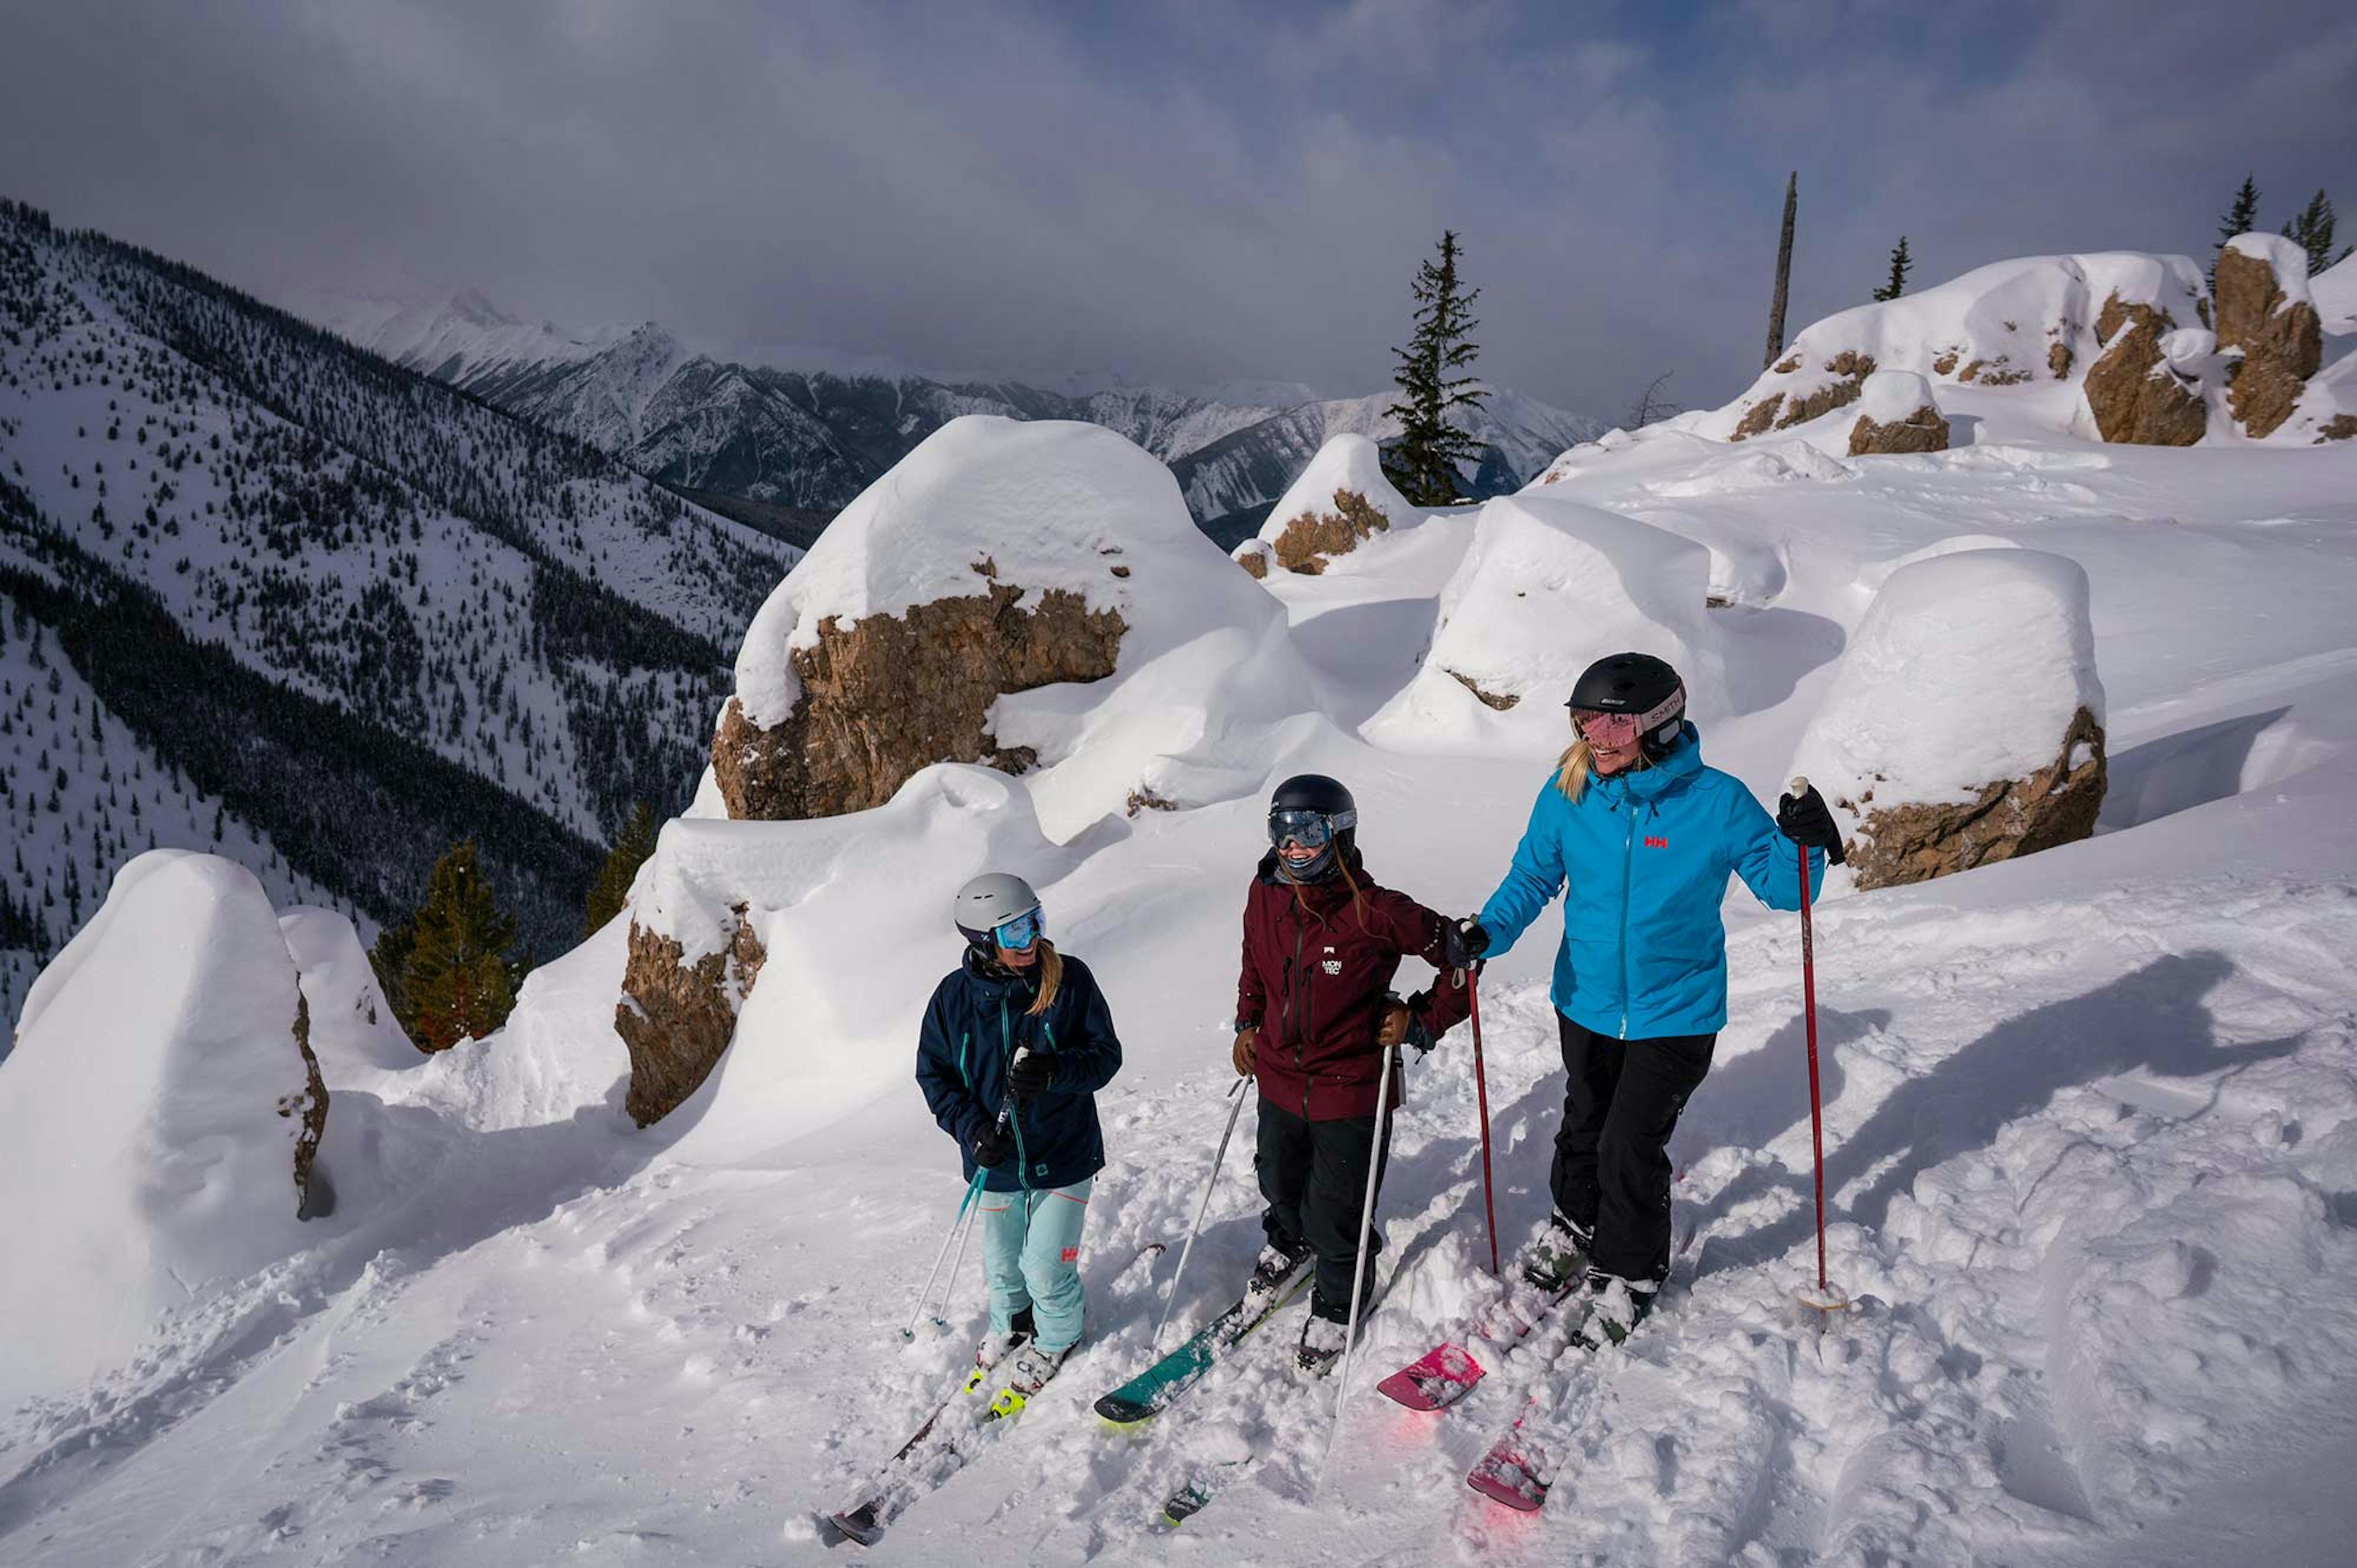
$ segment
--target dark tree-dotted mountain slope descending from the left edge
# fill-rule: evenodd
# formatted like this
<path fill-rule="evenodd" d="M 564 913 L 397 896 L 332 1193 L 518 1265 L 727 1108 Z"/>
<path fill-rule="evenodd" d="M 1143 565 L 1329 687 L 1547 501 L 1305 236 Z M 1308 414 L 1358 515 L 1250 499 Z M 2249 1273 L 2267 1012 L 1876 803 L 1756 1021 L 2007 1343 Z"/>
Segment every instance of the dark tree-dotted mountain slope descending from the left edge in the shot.
<path fill-rule="evenodd" d="M 797 556 L 16 205 L 0 480 L 0 591 L 160 765 L 247 819 L 257 869 L 276 855 L 304 897 L 382 918 L 436 836 L 474 833 L 542 951 L 577 930 L 592 841 L 632 798 L 686 796 L 726 647 Z M 28 855 L 57 843 L 31 815 L 12 829 Z M 101 836 L 144 848 L 127 819 Z"/>

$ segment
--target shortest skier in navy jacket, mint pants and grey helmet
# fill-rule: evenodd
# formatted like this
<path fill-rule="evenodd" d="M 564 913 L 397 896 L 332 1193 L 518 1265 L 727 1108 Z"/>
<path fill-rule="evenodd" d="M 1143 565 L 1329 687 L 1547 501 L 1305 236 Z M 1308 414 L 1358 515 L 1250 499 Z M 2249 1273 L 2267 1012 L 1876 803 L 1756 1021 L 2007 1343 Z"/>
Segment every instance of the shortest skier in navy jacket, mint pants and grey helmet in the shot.
<path fill-rule="evenodd" d="M 966 954 L 924 1008 L 917 1083 L 957 1140 L 966 1182 L 988 1172 L 990 1335 L 976 1366 L 1014 1356 L 992 1403 L 1018 1408 L 1080 1342 L 1080 1227 L 1105 1165 L 1096 1090 L 1122 1069 L 1122 1041 L 1089 965 L 1047 939 L 1021 876 L 976 876 L 955 918 Z"/>

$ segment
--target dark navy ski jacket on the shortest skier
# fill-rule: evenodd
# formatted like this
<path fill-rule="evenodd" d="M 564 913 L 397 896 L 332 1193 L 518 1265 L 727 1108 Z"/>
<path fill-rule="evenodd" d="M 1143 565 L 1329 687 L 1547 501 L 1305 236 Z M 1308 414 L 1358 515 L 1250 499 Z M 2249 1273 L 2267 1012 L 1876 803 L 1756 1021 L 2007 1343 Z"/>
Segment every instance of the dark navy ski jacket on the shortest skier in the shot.
<path fill-rule="evenodd" d="M 1061 958 L 1063 982 L 1039 1017 L 1030 1012 L 1039 996 L 1032 977 L 985 965 L 973 949 L 924 1005 L 917 1083 L 933 1121 L 957 1140 L 969 1182 L 973 1140 L 1006 1104 L 1006 1064 L 1016 1050 L 1030 1045 L 1056 1059 L 1051 1085 L 1016 1111 L 1016 1158 L 990 1168 L 988 1191 L 1070 1187 L 1105 1165 L 1096 1090 L 1122 1071 L 1122 1041 L 1089 965 L 1070 954 Z"/>

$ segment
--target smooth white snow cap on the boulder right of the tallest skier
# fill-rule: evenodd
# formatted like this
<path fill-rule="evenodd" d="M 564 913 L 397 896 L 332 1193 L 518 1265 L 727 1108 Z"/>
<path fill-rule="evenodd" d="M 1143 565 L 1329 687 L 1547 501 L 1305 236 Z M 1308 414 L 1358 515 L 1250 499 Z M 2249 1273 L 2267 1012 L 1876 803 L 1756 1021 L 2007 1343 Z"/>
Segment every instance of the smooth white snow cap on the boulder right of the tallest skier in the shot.
<path fill-rule="evenodd" d="M 1871 798 L 1963 803 L 2102 723 L 2086 567 L 2034 549 L 1942 551 L 1890 572 L 1791 770 L 1850 817 Z"/>

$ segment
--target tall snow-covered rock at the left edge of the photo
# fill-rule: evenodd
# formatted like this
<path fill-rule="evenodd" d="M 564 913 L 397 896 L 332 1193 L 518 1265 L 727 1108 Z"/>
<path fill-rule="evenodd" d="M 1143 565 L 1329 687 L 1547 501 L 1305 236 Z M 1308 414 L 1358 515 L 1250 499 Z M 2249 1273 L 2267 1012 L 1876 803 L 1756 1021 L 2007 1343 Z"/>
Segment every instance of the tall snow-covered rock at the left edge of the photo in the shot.
<path fill-rule="evenodd" d="M 0 1071 L 0 1406 L 304 1245 L 328 1090 L 262 883 L 151 850 L 42 970 Z M 38 1224 L 31 1220 L 38 1217 Z"/>

